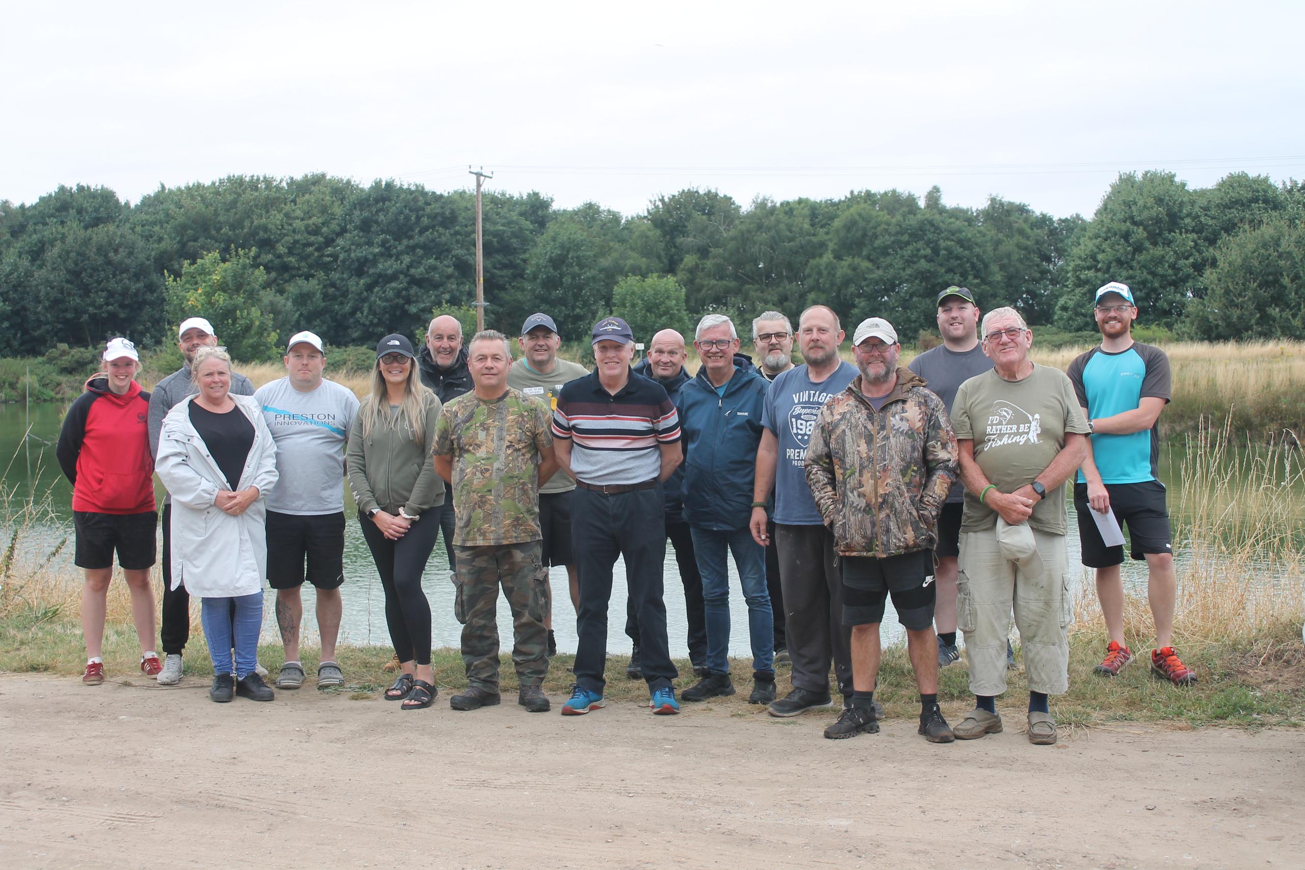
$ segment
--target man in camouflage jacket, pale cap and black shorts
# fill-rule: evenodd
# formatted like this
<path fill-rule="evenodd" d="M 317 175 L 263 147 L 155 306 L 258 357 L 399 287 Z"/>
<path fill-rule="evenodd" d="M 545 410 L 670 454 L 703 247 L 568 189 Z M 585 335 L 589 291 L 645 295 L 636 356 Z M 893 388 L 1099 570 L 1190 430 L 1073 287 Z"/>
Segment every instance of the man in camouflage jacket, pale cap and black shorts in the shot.
<path fill-rule="evenodd" d="M 959 468 L 957 437 L 942 399 L 897 365 L 891 323 L 865 320 L 852 344 L 861 373 L 821 408 L 806 447 L 806 483 L 834 532 L 843 623 L 852 629 L 852 704 L 825 736 L 878 732 L 880 622 L 891 595 L 920 687 L 920 733 L 951 742 L 937 704 L 933 545 Z"/>

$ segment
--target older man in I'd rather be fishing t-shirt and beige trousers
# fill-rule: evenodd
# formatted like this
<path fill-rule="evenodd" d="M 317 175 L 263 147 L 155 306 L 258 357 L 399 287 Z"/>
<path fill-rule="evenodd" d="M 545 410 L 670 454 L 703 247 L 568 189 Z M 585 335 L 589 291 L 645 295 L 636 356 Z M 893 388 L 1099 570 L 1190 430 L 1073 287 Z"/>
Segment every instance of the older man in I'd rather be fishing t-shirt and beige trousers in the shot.
<path fill-rule="evenodd" d="M 957 390 L 951 424 L 960 450 L 966 506 L 960 518 L 957 616 L 970 657 L 975 710 L 959 740 L 1002 729 L 1006 630 L 1014 610 L 1028 674 L 1028 740 L 1056 742 L 1048 695 L 1069 689 L 1065 481 L 1087 451 L 1087 419 L 1060 369 L 1028 359 L 1034 334 L 1014 308 L 983 318 L 993 370 Z"/>

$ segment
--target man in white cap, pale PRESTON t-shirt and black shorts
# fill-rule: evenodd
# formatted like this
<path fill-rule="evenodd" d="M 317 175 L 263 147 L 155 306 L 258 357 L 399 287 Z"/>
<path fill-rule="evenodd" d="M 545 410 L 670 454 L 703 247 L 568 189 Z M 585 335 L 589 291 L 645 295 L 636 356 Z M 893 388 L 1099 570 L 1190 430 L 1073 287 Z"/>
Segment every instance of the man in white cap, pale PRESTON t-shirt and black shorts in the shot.
<path fill-rule="evenodd" d="M 345 685 L 335 639 L 345 582 L 345 445 L 358 397 L 322 377 L 326 348 L 316 334 L 304 330 L 291 335 L 282 359 L 286 377 L 253 394 L 277 442 L 281 475 L 268 493 L 268 583 L 277 590 L 277 626 L 286 647 L 277 689 L 304 685 L 299 625 L 305 579 L 317 591 L 317 687 L 330 689 Z"/>

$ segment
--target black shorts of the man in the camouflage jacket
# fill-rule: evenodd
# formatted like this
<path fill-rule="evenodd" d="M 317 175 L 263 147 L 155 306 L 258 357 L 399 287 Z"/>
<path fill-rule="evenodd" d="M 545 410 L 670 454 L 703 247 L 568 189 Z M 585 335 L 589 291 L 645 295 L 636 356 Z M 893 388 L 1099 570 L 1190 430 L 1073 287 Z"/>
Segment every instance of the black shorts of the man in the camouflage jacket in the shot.
<path fill-rule="evenodd" d="M 933 550 L 887 558 L 839 556 L 843 573 L 843 625 L 883 621 L 883 603 L 893 596 L 902 627 L 923 631 L 933 625 Z"/>

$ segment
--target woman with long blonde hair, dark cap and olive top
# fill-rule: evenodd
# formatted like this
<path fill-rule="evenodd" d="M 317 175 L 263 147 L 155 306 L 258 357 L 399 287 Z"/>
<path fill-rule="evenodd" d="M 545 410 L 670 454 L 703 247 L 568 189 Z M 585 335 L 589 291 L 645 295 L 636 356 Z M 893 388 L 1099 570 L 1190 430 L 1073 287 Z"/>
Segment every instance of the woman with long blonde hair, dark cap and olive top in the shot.
<path fill-rule="evenodd" d="M 385 590 L 385 622 L 402 673 L 385 693 L 403 710 L 435 700 L 431 603 L 422 573 L 435 549 L 444 481 L 435 472 L 435 420 L 440 399 L 419 377 L 412 343 L 386 335 L 376 346 L 372 393 L 348 434 L 348 487 L 358 522 Z"/>

